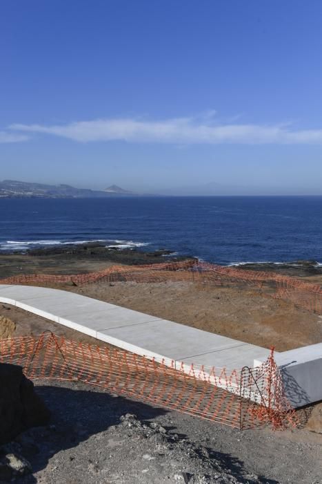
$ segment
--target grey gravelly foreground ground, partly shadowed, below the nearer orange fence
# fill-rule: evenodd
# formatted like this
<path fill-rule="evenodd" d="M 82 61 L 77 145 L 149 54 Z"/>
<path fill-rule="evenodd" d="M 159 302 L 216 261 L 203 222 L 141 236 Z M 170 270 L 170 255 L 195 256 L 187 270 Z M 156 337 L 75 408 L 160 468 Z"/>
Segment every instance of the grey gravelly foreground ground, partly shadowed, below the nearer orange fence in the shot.
<path fill-rule="evenodd" d="M 18 439 L 34 470 L 19 484 L 322 482 L 321 436 L 306 430 L 239 431 L 81 383 L 37 391 L 52 420 Z M 126 413 L 148 428 L 122 422 Z"/>

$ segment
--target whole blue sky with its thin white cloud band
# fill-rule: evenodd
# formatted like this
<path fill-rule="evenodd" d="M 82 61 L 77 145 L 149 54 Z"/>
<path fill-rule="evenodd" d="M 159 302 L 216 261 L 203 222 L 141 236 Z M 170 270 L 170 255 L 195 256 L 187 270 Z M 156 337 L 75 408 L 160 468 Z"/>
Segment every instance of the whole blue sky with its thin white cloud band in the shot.
<path fill-rule="evenodd" d="M 0 179 L 322 194 L 321 18 L 319 0 L 3 0 Z"/>

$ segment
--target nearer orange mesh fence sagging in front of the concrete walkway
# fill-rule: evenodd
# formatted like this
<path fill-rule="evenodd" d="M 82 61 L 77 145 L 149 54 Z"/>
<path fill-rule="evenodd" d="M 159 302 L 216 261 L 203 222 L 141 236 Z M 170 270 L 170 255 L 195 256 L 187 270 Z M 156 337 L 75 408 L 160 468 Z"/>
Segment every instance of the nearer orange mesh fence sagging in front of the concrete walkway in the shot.
<path fill-rule="evenodd" d="M 0 362 L 28 378 L 79 381 L 167 409 L 247 429 L 296 425 L 273 355 L 259 369 L 199 369 L 119 348 L 70 341 L 53 333 L 0 339 Z"/>

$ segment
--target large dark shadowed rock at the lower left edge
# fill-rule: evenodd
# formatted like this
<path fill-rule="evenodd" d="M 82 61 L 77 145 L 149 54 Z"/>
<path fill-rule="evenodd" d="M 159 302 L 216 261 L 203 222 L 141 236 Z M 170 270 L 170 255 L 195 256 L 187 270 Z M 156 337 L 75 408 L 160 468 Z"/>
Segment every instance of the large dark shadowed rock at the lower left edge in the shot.
<path fill-rule="evenodd" d="M 21 366 L 0 364 L 0 444 L 28 427 L 46 424 L 49 418 L 50 411 Z"/>

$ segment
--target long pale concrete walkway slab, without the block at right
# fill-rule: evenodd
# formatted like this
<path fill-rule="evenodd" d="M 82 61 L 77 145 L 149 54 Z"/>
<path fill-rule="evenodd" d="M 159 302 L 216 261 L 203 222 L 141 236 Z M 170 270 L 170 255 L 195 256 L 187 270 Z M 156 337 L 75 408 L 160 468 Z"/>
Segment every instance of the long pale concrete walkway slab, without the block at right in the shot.
<path fill-rule="evenodd" d="M 0 285 L 0 302 L 12 304 L 133 353 L 205 367 L 241 369 L 270 351 L 166 319 L 57 289 Z M 46 328 L 43 328 L 44 331 Z"/>

